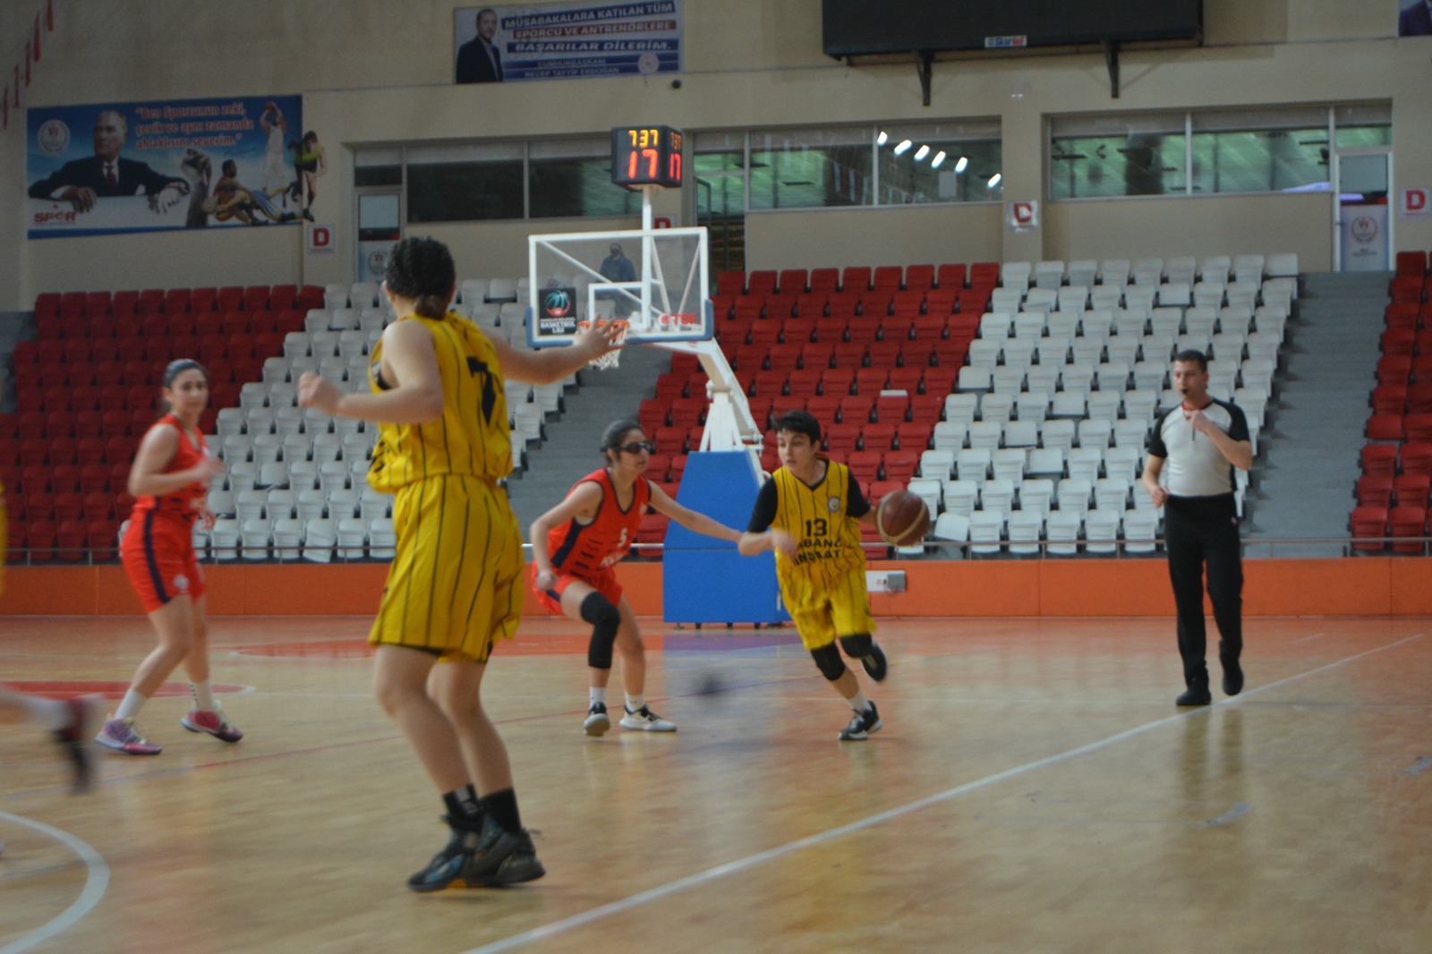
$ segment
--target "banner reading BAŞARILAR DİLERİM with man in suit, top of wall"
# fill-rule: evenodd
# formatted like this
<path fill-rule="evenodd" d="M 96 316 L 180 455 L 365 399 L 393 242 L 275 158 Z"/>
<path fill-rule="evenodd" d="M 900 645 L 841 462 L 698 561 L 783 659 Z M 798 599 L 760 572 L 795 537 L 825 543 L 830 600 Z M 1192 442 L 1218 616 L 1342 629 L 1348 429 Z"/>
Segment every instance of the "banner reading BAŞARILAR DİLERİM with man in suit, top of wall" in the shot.
<path fill-rule="evenodd" d="M 453 17 L 458 83 L 682 72 L 682 0 L 458 7 Z"/>

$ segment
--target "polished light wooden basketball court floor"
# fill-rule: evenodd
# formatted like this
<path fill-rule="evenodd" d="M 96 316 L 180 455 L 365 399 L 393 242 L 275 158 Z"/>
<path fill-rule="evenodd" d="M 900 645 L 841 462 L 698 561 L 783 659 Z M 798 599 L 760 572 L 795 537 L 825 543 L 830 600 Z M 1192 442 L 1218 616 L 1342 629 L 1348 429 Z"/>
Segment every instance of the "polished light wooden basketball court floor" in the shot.
<path fill-rule="evenodd" d="M 155 699 L 163 755 L 84 796 L 0 728 L 0 954 L 1432 950 L 1432 620 L 1249 620 L 1247 689 L 1191 712 L 1171 620 L 885 620 L 866 743 L 790 630 L 644 626 L 676 735 L 581 733 L 573 623 L 488 670 L 548 868 L 520 888 L 404 887 L 441 804 L 364 619 L 216 619 L 248 736 Z M 10 617 L 0 679 L 120 685 L 150 645 Z"/>

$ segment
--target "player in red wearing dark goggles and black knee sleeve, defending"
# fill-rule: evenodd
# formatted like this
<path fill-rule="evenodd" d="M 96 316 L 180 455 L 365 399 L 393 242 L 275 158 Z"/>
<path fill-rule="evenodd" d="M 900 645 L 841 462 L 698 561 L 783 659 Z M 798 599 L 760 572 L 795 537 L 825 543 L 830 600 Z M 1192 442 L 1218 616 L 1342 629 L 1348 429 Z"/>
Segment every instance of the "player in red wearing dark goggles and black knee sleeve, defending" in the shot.
<path fill-rule="evenodd" d="M 531 526 L 537 599 L 554 613 L 591 623 L 587 646 L 590 702 L 583 723 L 587 735 L 601 735 L 611 728 L 607 679 L 613 645 L 621 652 L 626 689 L 621 726 L 644 732 L 676 731 L 674 723 L 646 705 L 646 647 L 636 615 L 613 572 L 632 549 L 647 507 L 695 533 L 732 543 L 740 540 L 740 530 L 687 510 L 643 476 L 652 450 L 636 421 L 616 421 L 601 437 L 606 467 L 579 480 L 566 500 Z"/>

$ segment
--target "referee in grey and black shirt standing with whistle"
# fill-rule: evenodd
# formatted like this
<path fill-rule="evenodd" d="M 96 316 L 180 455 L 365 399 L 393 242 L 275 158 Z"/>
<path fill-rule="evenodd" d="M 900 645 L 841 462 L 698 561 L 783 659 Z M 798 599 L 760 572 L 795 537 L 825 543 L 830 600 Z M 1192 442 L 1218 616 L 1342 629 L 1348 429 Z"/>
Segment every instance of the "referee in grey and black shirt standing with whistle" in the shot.
<path fill-rule="evenodd" d="M 1201 351 L 1180 351 L 1173 360 L 1179 407 L 1161 415 L 1148 435 L 1144 490 L 1164 509 L 1164 547 L 1169 579 L 1179 609 L 1179 655 L 1187 689 L 1180 706 L 1206 706 L 1209 665 L 1203 623 L 1203 567 L 1209 569 L 1209 599 L 1219 625 L 1223 692 L 1243 690 L 1243 559 L 1239 553 L 1239 513 L 1233 497 L 1233 468 L 1253 466 L 1247 418 L 1229 401 L 1209 395 L 1209 360 Z M 1158 483 L 1169 464 L 1166 484 Z"/>

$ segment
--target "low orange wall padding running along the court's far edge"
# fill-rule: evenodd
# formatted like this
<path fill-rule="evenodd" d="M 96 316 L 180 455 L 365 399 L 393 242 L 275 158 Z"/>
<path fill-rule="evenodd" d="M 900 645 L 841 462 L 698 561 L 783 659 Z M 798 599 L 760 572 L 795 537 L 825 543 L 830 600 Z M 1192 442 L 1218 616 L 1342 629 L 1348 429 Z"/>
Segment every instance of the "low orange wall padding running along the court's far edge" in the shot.
<path fill-rule="evenodd" d="M 367 616 L 385 564 L 205 566 L 212 616 Z M 876 616 L 1171 616 L 1167 564 L 1150 560 L 881 562 L 904 570 L 905 593 L 872 593 Z M 1432 559 L 1244 560 L 1247 616 L 1432 615 Z M 621 563 L 639 616 L 662 615 L 662 564 Z M 10 567 L 4 616 L 137 615 L 123 569 Z M 1210 610 L 1211 612 L 1211 610 Z M 548 615 L 528 599 L 527 615 Z"/>

